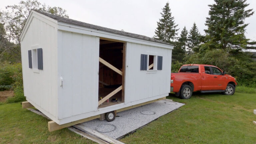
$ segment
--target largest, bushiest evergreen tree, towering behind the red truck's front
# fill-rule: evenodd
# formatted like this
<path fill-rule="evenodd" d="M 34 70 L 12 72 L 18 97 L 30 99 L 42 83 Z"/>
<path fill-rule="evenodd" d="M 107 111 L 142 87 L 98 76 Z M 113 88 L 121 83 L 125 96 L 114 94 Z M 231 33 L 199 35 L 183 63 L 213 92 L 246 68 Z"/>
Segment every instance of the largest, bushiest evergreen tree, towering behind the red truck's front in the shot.
<path fill-rule="evenodd" d="M 209 35 L 209 47 L 225 49 L 227 52 L 231 49 L 237 51 L 246 49 L 247 44 L 252 44 L 244 35 L 248 25 L 244 23 L 244 20 L 254 13 L 252 9 L 245 10 L 249 4 L 246 3 L 246 0 L 214 1 L 215 4 L 208 5 L 210 17 L 206 18 L 205 23 L 208 26 L 205 33 Z"/>

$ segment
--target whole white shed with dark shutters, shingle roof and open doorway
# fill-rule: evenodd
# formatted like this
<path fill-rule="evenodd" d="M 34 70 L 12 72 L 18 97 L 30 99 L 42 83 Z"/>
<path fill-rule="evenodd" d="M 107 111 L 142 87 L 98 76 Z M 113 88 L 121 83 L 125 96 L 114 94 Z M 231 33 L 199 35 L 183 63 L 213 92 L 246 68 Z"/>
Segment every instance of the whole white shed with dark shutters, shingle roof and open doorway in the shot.
<path fill-rule="evenodd" d="M 170 92 L 168 43 L 36 10 L 20 39 L 24 95 L 59 125 Z"/>

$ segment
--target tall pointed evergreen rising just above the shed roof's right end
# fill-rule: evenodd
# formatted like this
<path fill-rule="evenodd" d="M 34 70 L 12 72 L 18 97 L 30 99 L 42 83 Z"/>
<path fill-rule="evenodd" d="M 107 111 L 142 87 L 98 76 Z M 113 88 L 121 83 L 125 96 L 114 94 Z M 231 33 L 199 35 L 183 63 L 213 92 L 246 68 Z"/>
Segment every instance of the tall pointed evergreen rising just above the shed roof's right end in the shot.
<path fill-rule="evenodd" d="M 176 38 L 175 36 L 178 35 L 177 31 L 179 29 L 176 29 L 178 25 L 174 22 L 169 3 L 166 3 L 162 10 L 162 18 L 157 22 L 157 28 L 155 30 L 156 35 L 154 38 L 164 42 L 170 42 L 170 39 L 174 40 Z"/>

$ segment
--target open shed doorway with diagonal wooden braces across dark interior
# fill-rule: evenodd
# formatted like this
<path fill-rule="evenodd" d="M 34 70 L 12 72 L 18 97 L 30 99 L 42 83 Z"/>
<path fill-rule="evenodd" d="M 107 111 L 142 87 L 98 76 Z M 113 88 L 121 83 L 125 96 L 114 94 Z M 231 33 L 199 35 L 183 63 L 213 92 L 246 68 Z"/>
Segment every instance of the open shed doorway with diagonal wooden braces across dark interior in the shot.
<path fill-rule="evenodd" d="M 100 39 L 98 108 L 124 102 L 125 49 L 124 42 Z"/>

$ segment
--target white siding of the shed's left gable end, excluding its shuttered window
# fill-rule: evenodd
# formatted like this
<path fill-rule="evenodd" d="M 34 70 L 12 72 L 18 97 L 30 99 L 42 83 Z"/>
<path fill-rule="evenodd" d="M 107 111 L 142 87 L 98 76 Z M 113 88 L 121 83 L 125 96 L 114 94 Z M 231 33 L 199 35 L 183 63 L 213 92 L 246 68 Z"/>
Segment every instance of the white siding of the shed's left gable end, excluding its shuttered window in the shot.
<path fill-rule="evenodd" d="M 57 24 L 36 15 L 21 39 L 21 59 L 24 95 L 26 99 L 53 120 L 57 121 Z M 43 49 L 43 70 L 29 68 L 28 50 Z"/>

